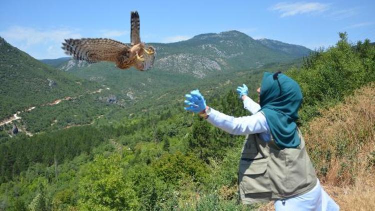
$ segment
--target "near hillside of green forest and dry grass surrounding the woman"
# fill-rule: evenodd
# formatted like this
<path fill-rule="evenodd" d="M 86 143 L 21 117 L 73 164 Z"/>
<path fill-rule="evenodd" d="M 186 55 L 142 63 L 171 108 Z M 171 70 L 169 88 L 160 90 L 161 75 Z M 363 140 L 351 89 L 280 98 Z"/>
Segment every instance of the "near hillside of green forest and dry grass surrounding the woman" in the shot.
<path fill-rule="evenodd" d="M 263 207 L 237 204 L 237 163 L 244 137 L 228 135 L 183 111 L 183 94 L 199 88 L 208 105 L 229 115 L 246 115 L 234 87 L 247 84 L 256 99 L 262 71 L 276 67 L 288 67 L 286 74 L 302 88 L 298 123 L 324 187 L 342 207 L 353 208 L 348 201 L 370 204 L 373 194 L 358 188 L 360 181 L 366 181 L 365 189 L 373 188 L 373 178 L 361 175 L 373 175 L 375 167 L 375 90 L 369 85 L 375 80 L 375 46 L 369 40 L 351 44 L 341 33 L 335 46 L 305 57 L 300 67 L 238 70 L 224 75 L 227 83 L 212 79 L 185 84 L 170 90 L 179 95 L 163 98 L 163 106 L 152 109 L 150 102 L 161 97 L 154 96 L 146 104 L 129 107 L 137 112 L 112 109 L 84 126 L 32 137 L 23 133 L 10 137 L 1 131 L 0 209 Z M 342 185 L 346 195 L 337 189 Z"/>

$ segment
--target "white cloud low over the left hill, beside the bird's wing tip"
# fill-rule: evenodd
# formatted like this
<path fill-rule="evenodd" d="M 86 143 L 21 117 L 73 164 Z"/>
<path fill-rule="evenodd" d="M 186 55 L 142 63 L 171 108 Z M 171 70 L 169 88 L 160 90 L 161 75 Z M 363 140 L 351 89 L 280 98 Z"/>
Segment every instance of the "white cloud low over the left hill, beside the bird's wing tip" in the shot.
<path fill-rule="evenodd" d="M 0 31 L 0 36 L 13 46 L 40 59 L 66 56 L 60 48 L 61 42 L 66 38 L 80 38 L 81 34 L 70 28 L 41 30 L 32 27 L 11 26 Z"/>

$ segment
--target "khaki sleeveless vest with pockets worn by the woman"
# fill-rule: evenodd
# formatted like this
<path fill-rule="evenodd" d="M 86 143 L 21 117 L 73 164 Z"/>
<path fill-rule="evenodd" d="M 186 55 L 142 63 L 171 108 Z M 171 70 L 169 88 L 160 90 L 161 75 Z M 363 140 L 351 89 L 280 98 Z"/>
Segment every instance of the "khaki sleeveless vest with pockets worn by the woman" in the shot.
<path fill-rule="evenodd" d="M 243 204 L 301 195 L 311 190 L 317 177 L 298 130 L 297 148 L 280 149 L 273 139 L 246 136 L 239 161 L 238 186 Z"/>

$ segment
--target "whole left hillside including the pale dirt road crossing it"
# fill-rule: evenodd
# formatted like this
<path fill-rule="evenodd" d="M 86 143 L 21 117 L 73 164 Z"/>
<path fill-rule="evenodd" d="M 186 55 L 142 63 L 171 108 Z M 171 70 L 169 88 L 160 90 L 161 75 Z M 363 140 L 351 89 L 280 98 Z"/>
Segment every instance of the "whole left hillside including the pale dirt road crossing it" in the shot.
<path fill-rule="evenodd" d="M 12 125 L 3 124 L 15 117 L 19 130 L 29 135 L 89 124 L 120 109 L 114 93 L 45 65 L 0 38 L 1 130 L 10 130 Z"/>

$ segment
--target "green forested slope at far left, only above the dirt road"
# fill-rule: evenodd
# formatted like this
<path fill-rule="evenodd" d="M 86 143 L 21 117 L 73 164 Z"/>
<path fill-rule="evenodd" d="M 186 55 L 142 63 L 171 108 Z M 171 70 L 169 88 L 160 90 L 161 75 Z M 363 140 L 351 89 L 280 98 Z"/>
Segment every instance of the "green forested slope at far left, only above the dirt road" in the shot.
<path fill-rule="evenodd" d="M 97 88 L 97 83 L 56 71 L 0 37 L 0 119 Z"/>

